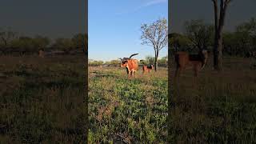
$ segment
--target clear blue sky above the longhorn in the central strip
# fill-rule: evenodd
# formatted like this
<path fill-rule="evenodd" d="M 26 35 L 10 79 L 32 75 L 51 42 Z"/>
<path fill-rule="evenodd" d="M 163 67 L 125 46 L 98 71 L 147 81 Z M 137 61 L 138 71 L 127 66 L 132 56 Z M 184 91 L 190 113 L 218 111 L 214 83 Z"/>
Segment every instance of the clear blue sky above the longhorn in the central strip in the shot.
<path fill-rule="evenodd" d="M 89 0 L 89 58 L 109 61 L 129 57 L 143 59 L 154 55 L 151 46 L 141 44 L 142 23 L 168 18 L 167 0 Z M 163 48 L 159 57 L 167 55 Z"/>

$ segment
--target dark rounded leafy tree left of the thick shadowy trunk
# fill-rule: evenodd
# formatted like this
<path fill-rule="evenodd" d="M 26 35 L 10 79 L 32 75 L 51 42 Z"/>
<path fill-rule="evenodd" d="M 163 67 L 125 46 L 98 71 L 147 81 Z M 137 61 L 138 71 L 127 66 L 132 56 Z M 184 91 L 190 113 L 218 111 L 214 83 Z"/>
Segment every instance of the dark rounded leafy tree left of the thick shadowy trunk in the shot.
<path fill-rule="evenodd" d="M 214 26 L 206 24 L 203 20 L 191 20 L 184 24 L 187 38 L 199 50 L 206 49 L 211 45 L 214 34 Z"/>

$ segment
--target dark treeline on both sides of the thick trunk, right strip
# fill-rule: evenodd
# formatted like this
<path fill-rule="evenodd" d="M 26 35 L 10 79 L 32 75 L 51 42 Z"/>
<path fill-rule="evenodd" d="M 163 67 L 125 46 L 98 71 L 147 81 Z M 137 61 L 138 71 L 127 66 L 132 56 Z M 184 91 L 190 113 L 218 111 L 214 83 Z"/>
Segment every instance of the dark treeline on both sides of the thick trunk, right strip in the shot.
<path fill-rule="evenodd" d="M 238 57 L 253 57 L 256 52 L 256 19 L 235 27 L 234 31 L 223 33 L 223 54 Z M 202 49 L 212 51 L 214 46 L 214 25 L 203 20 L 184 23 L 184 33 L 169 34 L 172 54 L 178 50 L 195 52 Z"/>

